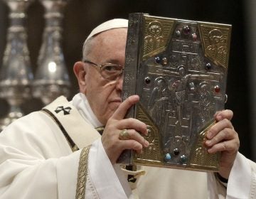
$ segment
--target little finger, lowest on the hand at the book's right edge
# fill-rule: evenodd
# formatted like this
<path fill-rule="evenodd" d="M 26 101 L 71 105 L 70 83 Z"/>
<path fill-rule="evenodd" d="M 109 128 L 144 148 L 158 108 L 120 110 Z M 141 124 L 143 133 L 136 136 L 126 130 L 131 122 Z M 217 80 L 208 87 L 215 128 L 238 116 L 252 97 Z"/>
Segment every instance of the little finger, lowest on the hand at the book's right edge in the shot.
<path fill-rule="evenodd" d="M 222 141 L 213 145 L 208 149 L 209 154 L 215 154 L 219 151 L 229 151 L 230 154 L 236 153 L 239 149 L 239 139 L 233 139 L 228 141 Z"/>

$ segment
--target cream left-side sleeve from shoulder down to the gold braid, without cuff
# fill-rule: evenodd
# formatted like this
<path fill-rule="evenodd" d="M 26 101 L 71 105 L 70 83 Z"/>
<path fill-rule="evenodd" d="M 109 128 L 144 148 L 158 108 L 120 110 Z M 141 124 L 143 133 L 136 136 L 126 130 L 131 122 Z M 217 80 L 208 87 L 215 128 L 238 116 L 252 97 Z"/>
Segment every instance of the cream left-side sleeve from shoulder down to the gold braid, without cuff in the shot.
<path fill-rule="evenodd" d="M 75 198 L 80 151 L 58 127 L 29 114 L 0 134 L 0 198 Z"/>

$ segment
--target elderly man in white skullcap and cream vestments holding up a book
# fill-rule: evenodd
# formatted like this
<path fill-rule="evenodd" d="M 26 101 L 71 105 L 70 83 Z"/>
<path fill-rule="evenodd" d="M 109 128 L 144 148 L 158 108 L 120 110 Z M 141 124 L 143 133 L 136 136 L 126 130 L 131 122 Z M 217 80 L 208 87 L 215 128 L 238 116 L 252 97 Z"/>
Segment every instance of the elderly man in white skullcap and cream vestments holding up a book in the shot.
<path fill-rule="evenodd" d="M 126 38 L 127 20 L 97 26 L 74 65 L 80 93 L 71 102 L 59 97 L 0 134 L 0 198 L 254 198 L 256 166 L 238 153 L 230 110 L 215 115 L 207 134 L 208 152 L 221 151 L 219 173 L 120 168 L 124 149 L 149 146 L 138 133 L 147 134 L 146 124 L 124 119 L 139 102 L 137 95 L 121 101 Z M 119 139 L 122 129 L 129 139 Z"/>

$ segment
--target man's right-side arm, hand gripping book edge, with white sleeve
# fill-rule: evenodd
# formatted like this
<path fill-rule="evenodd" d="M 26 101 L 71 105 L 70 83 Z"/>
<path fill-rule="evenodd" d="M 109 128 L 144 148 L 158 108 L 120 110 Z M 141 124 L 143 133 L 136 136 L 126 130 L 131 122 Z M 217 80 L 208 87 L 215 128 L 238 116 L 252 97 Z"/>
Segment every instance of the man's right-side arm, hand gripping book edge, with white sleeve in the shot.
<path fill-rule="evenodd" d="M 248 198 L 249 195 L 255 197 L 256 164 L 238 153 L 240 141 L 238 133 L 230 122 L 232 117 L 233 112 L 230 110 L 217 112 L 215 114 L 217 123 L 207 134 L 208 152 L 211 154 L 220 151 L 219 174 L 228 180 L 225 190 L 218 178 L 208 174 L 208 185 L 214 187 L 209 188 L 210 195 L 218 195 L 218 198 Z"/>

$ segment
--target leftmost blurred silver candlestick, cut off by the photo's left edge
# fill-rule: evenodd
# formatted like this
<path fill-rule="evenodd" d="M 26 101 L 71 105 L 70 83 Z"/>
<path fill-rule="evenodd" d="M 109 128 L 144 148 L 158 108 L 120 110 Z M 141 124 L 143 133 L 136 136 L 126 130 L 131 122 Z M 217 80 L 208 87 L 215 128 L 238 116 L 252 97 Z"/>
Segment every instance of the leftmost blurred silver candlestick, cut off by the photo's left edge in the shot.
<path fill-rule="evenodd" d="M 0 72 L 0 97 L 10 105 L 7 116 L 0 121 L 0 131 L 15 119 L 23 116 L 20 105 L 31 95 L 31 63 L 25 28 L 26 9 L 33 0 L 4 0 L 9 6 L 6 49 Z"/>

